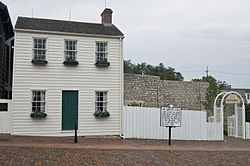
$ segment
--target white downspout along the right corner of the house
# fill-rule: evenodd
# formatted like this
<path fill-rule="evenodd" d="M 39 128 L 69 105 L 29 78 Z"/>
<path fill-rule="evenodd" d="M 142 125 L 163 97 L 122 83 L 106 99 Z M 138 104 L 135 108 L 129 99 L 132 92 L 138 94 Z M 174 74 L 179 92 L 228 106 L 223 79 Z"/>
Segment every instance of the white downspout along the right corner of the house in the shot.
<path fill-rule="evenodd" d="M 120 97 L 120 105 L 121 105 L 121 108 L 120 108 L 120 137 L 125 139 L 124 135 L 122 134 L 122 130 L 123 130 L 123 38 L 120 38 L 120 56 L 121 56 L 121 60 L 120 60 L 120 72 L 121 72 L 121 75 L 120 75 L 120 91 L 121 91 L 121 97 Z"/>

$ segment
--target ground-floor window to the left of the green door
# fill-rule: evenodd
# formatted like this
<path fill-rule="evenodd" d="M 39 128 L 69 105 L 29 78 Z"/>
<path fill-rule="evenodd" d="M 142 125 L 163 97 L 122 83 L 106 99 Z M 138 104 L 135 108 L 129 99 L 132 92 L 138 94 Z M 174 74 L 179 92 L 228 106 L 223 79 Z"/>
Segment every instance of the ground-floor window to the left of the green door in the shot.
<path fill-rule="evenodd" d="M 32 91 L 32 112 L 45 112 L 45 91 Z"/>

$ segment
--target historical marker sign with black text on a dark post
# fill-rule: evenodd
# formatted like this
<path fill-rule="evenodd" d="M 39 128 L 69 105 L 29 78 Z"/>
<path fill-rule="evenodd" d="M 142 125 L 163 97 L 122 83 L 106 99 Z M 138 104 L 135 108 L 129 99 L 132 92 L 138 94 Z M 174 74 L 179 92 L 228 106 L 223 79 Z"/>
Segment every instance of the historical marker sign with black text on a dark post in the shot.
<path fill-rule="evenodd" d="M 161 107 L 160 126 L 169 127 L 169 145 L 171 145 L 172 127 L 181 127 L 181 113 L 181 108 L 174 108 L 173 105 Z"/>

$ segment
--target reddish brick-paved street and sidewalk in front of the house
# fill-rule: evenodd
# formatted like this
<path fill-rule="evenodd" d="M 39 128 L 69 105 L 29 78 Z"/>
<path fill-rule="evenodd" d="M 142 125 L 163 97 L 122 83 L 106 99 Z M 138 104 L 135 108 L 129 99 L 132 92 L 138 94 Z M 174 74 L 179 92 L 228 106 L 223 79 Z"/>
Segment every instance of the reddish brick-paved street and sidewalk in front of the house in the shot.
<path fill-rule="evenodd" d="M 74 144 L 69 138 L 54 139 L 14 137 L 0 141 L 0 166 L 250 165 L 249 140 L 173 141 L 175 145 L 169 147 L 167 141 L 160 140 L 81 138 Z"/>

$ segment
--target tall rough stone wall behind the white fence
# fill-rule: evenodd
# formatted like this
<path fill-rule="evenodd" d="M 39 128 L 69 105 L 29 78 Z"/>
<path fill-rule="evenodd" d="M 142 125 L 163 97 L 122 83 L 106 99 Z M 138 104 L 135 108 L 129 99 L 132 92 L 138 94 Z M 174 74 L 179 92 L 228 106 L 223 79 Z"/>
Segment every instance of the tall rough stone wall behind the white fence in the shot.
<path fill-rule="evenodd" d="M 204 110 L 208 83 L 160 80 L 158 76 L 124 74 L 124 104 L 161 107 L 173 104 L 186 110 Z"/>

